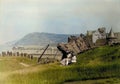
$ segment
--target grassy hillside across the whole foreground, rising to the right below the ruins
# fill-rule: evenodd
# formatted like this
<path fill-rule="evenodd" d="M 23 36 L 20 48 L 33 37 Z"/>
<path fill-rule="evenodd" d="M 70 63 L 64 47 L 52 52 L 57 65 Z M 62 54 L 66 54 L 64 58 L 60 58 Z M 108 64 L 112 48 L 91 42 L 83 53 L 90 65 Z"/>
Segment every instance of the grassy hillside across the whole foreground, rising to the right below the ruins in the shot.
<path fill-rule="evenodd" d="M 0 57 L 0 75 L 2 84 L 119 84 L 120 46 L 88 50 L 70 66 L 58 62 L 38 65 L 36 59 Z"/>

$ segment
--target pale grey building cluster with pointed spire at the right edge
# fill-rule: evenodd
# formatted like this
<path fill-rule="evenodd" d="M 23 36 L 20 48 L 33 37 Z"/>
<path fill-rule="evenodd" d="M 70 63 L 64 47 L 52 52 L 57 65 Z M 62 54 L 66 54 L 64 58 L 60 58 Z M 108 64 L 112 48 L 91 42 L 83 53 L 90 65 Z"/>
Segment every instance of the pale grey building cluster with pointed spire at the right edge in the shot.
<path fill-rule="evenodd" d="M 105 44 L 120 43 L 120 32 L 113 32 L 112 28 L 106 33 L 106 28 L 98 28 L 98 30 L 87 31 L 87 36 L 92 46 L 101 46 Z"/>

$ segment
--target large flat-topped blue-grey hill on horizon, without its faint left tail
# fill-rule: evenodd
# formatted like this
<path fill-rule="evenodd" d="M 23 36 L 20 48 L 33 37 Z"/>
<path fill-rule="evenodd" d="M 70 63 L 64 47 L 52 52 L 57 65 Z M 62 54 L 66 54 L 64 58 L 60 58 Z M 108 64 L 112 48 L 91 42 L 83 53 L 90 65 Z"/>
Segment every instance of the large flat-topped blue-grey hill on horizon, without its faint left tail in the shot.
<path fill-rule="evenodd" d="M 57 43 L 67 42 L 68 34 L 52 34 L 34 32 L 27 34 L 22 39 L 18 40 L 14 45 L 56 45 Z"/>

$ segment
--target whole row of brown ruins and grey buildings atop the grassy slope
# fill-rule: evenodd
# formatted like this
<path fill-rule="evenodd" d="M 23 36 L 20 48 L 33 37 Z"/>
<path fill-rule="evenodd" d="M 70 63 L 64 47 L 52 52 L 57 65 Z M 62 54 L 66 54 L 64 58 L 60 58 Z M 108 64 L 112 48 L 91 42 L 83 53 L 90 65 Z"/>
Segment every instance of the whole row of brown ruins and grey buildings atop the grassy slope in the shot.
<path fill-rule="evenodd" d="M 95 40 L 95 43 L 93 40 Z M 76 56 L 77 54 L 82 53 L 88 49 L 115 44 L 120 45 L 120 33 L 114 33 L 112 28 L 109 33 L 106 33 L 105 28 L 99 28 L 95 32 L 88 32 L 86 36 L 83 34 L 78 37 L 70 36 L 68 37 L 67 43 L 59 43 L 57 48 L 63 54 L 61 61 L 64 60 L 64 63 L 62 64 L 65 65 L 65 62 L 70 61 L 70 59 L 72 60 L 72 56 Z M 69 54 L 71 54 L 70 58 Z"/>

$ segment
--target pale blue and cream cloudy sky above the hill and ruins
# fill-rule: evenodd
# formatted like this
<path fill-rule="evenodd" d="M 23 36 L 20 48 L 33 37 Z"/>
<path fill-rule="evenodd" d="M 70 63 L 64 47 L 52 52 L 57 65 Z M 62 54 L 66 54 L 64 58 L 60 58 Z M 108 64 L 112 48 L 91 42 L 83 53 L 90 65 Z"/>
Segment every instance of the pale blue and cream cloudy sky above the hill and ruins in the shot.
<path fill-rule="evenodd" d="M 120 31 L 120 0 L 0 0 L 0 44 L 32 32 Z"/>

